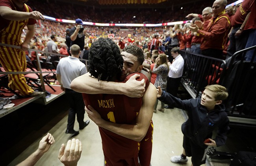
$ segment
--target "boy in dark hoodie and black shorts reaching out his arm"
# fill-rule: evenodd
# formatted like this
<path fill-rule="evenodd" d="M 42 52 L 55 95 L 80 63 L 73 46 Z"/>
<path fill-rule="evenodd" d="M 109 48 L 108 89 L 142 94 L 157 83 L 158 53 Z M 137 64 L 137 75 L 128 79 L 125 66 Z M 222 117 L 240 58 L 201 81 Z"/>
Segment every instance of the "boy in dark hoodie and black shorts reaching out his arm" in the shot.
<path fill-rule="evenodd" d="M 229 120 L 222 101 L 228 97 L 227 89 L 221 85 L 208 85 L 201 97 L 181 100 L 158 87 L 158 99 L 165 104 L 187 111 L 188 119 L 182 124 L 182 155 L 171 157 L 171 162 L 187 162 L 192 157 L 193 166 L 200 166 L 206 160 L 207 146 L 221 146 L 226 142 Z M 218 128 L 217 136 L 212 132 Z"/>

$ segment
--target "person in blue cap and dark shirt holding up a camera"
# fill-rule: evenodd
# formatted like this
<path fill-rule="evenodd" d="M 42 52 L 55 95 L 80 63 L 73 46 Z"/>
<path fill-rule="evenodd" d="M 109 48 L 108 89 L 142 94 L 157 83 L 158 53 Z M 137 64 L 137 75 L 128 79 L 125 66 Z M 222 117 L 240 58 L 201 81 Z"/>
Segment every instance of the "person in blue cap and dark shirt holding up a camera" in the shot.
<path fill-rule="evenodd" d="M 74 44 L 78 45 L 80 47 L 80 58 L 83 57 L 83 47 L 84 47 L 84 38 L 89 37 L 89 34 L 85 32 L 85 29 L 83 27 L 83 20 L 81 20 L 80 18 L 76 19 L 76 25 L 74 27 L 72 27 L 69 31 L 70 34 L 70 39 L 71 39 L 71 43 L 70 43 L 70 47 Z"/>

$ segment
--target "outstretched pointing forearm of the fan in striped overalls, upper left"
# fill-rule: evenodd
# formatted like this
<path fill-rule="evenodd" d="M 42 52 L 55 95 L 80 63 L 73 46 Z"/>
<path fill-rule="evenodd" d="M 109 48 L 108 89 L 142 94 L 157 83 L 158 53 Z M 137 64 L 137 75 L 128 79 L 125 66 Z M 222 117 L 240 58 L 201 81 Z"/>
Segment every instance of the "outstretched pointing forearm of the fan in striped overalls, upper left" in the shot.
<path fill-rule="evenodd" d="M 15 11 L 7 6 L 0 6 L 0 15 L 4 19 L 12 20 L 12 21 L 26 20 L 28 18 L 34 18 L 36 20 L 44 19 L 43 14 L 41 14 L 39 11 L 32 11 L 29 13 L 22 12 L 22 11 Z"/>

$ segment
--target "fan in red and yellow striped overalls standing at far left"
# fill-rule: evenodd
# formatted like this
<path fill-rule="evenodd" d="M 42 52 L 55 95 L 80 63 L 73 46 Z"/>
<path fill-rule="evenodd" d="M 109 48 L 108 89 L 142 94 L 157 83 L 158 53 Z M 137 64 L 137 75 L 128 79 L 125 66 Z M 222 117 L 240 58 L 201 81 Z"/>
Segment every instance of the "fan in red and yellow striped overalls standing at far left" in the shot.
<path fill-rule="evenodd" d="M 0 43 L 21 46 L 22 49 L 0 47 L 0 65 L 9 72 L 24 72 L 26 69 L 26 54 L 29 43 L 35 32 L 36 20 L 44 19 L 38 11 L 26 5 L 28 0 L 1 0 L 0 1 Z M 24 27 L 28 28 L 26 37 L 21 40 Z M 6 63 L 7 62 L 7 63 Z M 40 93 L 34 92 L 28 86 L 24 74 L 9 74 L 9 85 L 13 90 L 19 90 L 22 96 L 35 96 Z"/>

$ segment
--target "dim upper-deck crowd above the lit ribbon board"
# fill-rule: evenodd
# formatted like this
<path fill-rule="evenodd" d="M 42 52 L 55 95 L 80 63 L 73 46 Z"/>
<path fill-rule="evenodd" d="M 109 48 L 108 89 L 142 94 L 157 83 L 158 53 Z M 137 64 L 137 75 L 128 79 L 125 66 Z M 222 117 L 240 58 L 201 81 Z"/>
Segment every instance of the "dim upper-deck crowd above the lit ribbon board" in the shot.
<path fill-rule="evenodd" d="M 234 1 L 230 0 L 229 3 Z M 164 23 L 184 20 L 189 13 L 200 13 L 204 7 L 211 6 L 212 1 L 192 2 L 185 5 L 170 4 L 163 9 L 139 9 L 137 7 L 134 9 L 101 9 L 100 5 L 95 7 L 70 5 L 70 3 L 54 0 L 28 1 L 28 5 L 46 16 L 60 19 L 81 18 L 86 22 L 98 23 L 111 23 L 112 21 L 113 23 Z"/>

